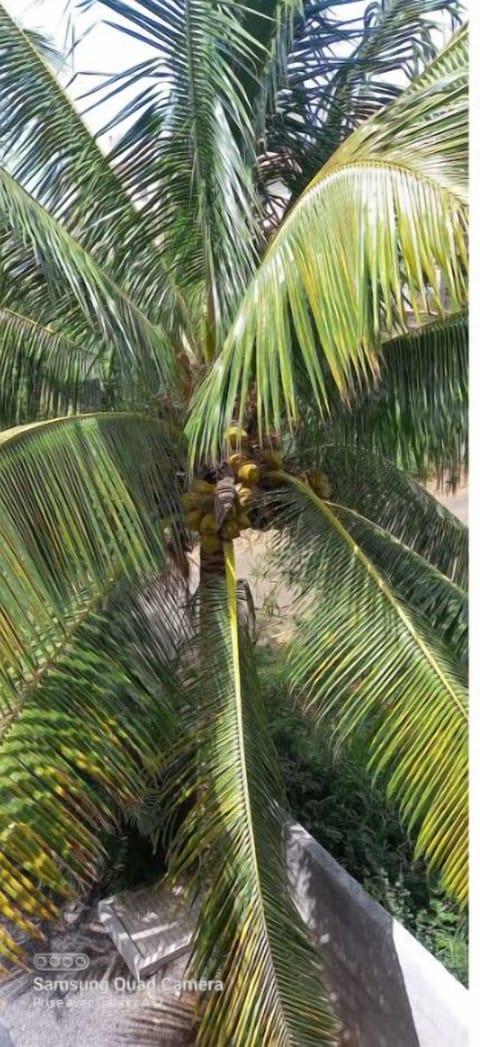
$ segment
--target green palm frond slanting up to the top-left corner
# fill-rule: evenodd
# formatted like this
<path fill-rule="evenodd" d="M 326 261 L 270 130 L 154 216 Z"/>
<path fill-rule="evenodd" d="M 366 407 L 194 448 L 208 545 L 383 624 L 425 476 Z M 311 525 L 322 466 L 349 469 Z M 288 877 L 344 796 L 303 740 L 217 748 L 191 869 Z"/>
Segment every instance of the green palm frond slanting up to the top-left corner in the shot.
<path fill-rule="evenodd" d="M 187 308 L 155 246 L 149 209 L 122 185 L 56 76 L 52 58 L 42 38 L 0 5 L 3 162 L 154 322 L 173 313 L 190 339 Z"/>

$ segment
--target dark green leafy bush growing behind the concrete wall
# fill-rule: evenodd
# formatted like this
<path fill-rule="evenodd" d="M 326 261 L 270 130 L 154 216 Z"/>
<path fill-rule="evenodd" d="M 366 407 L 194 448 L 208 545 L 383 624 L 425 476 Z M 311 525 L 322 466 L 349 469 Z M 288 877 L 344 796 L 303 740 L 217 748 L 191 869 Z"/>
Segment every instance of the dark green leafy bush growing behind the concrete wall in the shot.
<path fill-rule="evenodd" d="M 309 734 L 287 697 L 278 652 L 259 651 L 268 717 L 294 818 L 380 905 L 466 984 L 466 916 L 414 860 L 414 845 L 357 739 L 334 756 L 326 731 Z"/>

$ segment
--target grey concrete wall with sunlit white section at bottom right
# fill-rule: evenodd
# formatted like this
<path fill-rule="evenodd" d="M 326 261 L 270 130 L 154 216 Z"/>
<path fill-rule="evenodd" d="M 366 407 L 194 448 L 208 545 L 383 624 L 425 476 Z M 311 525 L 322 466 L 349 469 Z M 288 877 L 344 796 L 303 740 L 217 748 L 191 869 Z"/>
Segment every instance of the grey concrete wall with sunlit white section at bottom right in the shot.
<path fill-rule="evenodd" d="M 297 823 L 292 894 L 325 957 L 348 1047 L 465 1047 L 468 993 Z"/>

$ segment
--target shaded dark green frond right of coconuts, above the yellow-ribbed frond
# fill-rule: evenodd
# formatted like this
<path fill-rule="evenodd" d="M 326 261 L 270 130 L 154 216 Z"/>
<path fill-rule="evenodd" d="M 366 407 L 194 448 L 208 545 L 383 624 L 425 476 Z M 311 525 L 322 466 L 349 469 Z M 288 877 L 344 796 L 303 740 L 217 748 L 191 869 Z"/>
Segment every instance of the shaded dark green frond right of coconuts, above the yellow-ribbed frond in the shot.
<path fill-rule="evenodd" d="M 301 461 L 329 477 L 336 503 L 389 531 L 461 588 L 468 586 L 468 529 L 391 462 L 306 435 Z"/>

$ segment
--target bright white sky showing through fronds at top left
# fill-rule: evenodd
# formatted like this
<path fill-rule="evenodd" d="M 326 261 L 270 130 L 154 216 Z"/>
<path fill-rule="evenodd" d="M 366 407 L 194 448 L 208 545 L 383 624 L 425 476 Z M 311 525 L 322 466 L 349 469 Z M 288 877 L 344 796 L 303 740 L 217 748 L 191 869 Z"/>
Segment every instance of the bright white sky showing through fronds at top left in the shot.
<path fill-rule="evenodd" d="M 114 20 L 114 16 L 110 15 L 101 3 L 92 3 L 90 10 L 83 14 L 79 12 L 77 0 L 3 0 L 3 3 L 14 18 L 23 25 L 42 29 L 48 35 L 62 52 L 65 50 L 65 31 L 68 24 L 66 12 L 69 13 L 75 26 L 75 38 L 80 41 L 74 51 L 77 76 L 73 85 L 69 87 L 69 92 L 77 99 L 99 82 L 95 76 L 82 76 L 83 70 L 97 74 L 119 72 L 140 62 L 147 55 L 148 49 L 145 44 L 103 24 L 103 19 L 110 17 Z M 349 5 L 348 17 L 361 16 L 365 6 L 366 0 Z M 67 79 L 65 70 L 62 80 L 65 83 Z M 127 101 L 126 94 L 121 97 L 121 104 Z M 85 99 L 78 102 L 81 111 L 87 106 L 88 102 Z M 117 107 L 118 98 L 115 98 L 101 110 L 85 113 L 85 120 L 92 131 L 97 131 L 109 116 L 115 113 Z"/>

